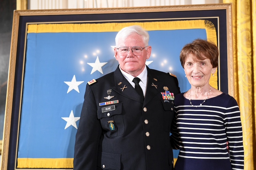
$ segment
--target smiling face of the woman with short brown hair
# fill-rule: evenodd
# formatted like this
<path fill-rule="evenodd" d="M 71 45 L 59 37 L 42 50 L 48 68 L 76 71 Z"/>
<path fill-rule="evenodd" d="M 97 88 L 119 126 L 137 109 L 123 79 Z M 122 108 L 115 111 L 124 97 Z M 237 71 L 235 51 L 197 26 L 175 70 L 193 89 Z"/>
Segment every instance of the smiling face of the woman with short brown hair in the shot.
<path fill-rule="evenodd" d="M 210 59 L 205 58 L 202 61 L 195 61 L 195 57 L 188 56 L 184 64 L 186 78 L 191 86 L 203 87 L 209 84 L 211 74 L 215 73 L 216 68 L 213 68 Z"/>

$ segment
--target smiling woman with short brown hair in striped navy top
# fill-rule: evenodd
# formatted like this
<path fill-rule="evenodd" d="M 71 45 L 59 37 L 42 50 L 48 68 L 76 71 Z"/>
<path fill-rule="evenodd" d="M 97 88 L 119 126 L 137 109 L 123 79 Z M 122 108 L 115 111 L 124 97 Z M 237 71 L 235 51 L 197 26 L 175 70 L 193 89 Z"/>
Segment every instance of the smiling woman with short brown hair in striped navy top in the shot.
<path fill-rule="evenodd" d="M 196 39 L 185 45 L 180 61 L 191 88 L 175 96 L 179 155 L 175 170 L 244 169 L 240 111 L 236 100 L 211 87 L 218 66 L 218 47 Z M 227 144 L 228 142 L 228 149 Z"/>

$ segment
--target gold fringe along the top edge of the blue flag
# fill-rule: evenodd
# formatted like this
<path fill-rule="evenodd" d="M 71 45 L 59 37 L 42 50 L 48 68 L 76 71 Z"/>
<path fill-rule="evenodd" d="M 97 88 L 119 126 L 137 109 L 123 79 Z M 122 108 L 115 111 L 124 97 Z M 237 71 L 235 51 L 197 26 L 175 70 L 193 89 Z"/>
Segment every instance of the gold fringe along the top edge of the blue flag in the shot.
<path fill-rule="evenodd" d="M 130 22 L 130 23 L 46 23 L 28 24 L 27 33 L 40 32 L 118 32 L 130 25 L 140 25 L 147 31 L 152 30 L 177 30 L 177 29 L 214 29 L 214 25 L 206 20 L 185 21 L 159 21 L 159 22 Z M 215 32 L 216 36 L 216 32 Z"/>

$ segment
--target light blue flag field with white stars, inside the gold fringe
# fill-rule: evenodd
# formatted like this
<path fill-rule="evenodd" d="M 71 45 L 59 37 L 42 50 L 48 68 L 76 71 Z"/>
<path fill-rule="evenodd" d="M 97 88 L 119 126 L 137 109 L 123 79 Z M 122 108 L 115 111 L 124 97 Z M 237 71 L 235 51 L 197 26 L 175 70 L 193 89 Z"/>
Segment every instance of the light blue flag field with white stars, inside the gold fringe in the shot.
<path fill-rule="evenodd" d="M 86 83 L 118 66 L 112 47 L 116 33 L 27 34 L 18 158 L 73 158 Z M 205 29 L 149 34 L 152 52 L 146 64 L 175 74 L 181 92 L 187 91 L 179 53 L 192 40 L 206 39 Z"/>

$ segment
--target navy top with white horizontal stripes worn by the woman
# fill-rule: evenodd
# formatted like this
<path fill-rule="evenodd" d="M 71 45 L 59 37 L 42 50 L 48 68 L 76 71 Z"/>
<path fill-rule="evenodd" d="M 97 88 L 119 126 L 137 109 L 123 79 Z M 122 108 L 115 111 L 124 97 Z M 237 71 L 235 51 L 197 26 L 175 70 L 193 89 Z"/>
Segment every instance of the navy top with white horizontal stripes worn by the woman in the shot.
<path fill-rule="evenodd" d="M 244 169 L 242 125 L 236 100 L 222 93 L 207 99 L 202 106 L 198 105 L 203 100 L 191 100 L 192 107 L 183 94 L 174 100 L 176 115 L 171 138 L 179 141 L 180 149 L 175 170 Z"/>

